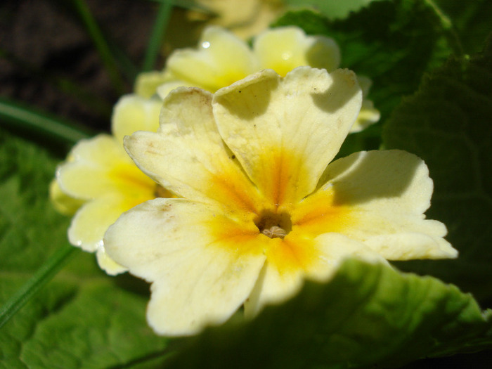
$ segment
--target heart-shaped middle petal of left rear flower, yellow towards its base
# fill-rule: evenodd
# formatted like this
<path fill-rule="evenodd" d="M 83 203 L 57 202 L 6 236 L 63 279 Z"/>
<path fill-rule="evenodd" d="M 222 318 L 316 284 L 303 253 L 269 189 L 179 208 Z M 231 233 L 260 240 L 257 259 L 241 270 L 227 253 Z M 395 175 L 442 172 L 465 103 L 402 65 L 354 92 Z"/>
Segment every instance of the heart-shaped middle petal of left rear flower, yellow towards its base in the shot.
<path fill-rule="evenodd" d="M 142 201 L 153 198 L 155 183 L 131 161 L 112 136 L 99 135 L 80 141 L 72 150 L 73 160 L 57 171 L 63 192 L 83 200 L 108 193 L 123 193 Z"/>

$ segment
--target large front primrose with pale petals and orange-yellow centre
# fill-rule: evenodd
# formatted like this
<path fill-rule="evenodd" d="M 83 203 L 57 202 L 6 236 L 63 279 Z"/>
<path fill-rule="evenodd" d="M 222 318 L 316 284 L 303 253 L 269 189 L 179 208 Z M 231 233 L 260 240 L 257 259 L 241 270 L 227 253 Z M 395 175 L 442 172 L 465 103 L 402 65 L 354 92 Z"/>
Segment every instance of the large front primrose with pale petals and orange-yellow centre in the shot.
<path fill-rule="evenodd" d="M 361 108 L 353 72 L 273 70 L 212 95 L 181 87 L 157 133 L 125 138 L 134 162 L 178 198 L 122 214 L 106 251 L 152 285 L 148 321 L 190 335 L 283 302 L 304 278 L 325 281 L 344 257 L 456 257 L 426 220 L 432 180 L 400 150 L 331 162 Z M 331 162 L 331 163 L 330 163 Z"/>

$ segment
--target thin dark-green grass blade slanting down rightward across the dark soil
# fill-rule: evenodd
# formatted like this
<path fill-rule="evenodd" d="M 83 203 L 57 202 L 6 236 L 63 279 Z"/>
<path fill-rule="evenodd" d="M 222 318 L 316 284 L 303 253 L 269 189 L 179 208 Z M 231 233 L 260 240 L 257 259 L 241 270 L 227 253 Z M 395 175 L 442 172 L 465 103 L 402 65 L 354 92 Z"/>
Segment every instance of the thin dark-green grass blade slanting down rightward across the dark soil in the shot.
<path fill-rule="evenodd" d="M 119 74 L 118 66 L 111 53 L 110 46 L 108 45 L 108 42 L 106 42 L 103 32 L 101 32 L 101 29 L 89 10 L 89 7 L 84 0 L 72 0 L 72 3 L 84 23 L 87 32 L 89 32 L 89 36 L 96 45 L 97 51 L 103 60 L 103 64 L 108 72 L 113 86 L 118 93 L 123 94 L 126 91 L 125 83 L 122 76 Z"/>

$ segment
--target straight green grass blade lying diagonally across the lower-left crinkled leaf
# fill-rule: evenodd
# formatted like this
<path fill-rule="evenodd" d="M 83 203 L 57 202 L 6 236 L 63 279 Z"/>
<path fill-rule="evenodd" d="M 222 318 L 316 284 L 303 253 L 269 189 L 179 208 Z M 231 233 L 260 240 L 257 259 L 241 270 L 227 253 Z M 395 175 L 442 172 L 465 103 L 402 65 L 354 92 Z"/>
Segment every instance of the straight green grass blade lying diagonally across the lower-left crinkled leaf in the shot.
<path fill-rule="evenodd" d="M 34 276 L 27 280 L 27 282 L 7 300 L 0 309 L 0 328 L 3 327 L 5 323 L 7 323 L 12 316 L 14 316 L 14 314 L 34 296 L 34 294 L 36 294 L 36 292 L 41 290 L 41 287 L 46 285 L 46 283 L 60 271 L 75 252 L 80 252 L 80 249 L 73 247 L 72 245 L 66 245 L 65 247 L 60 248 L 37 270 L 36 273 L 34 273 Z"/>

